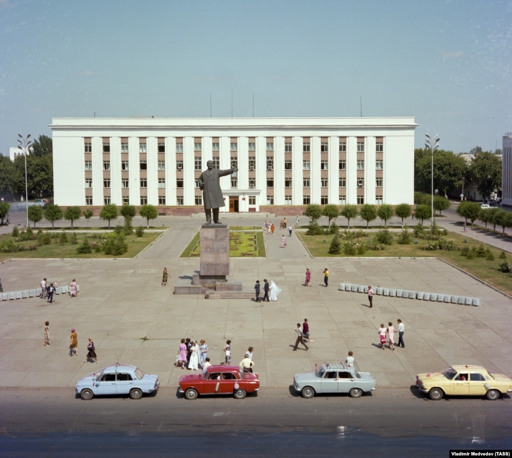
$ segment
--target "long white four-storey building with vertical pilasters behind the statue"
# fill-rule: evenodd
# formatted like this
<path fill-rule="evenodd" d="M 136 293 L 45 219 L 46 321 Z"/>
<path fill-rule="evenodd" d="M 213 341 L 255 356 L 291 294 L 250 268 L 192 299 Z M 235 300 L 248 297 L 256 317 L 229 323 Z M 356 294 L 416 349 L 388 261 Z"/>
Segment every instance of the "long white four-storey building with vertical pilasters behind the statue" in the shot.
<path fill-rule="evenodd" d="M 412 117 L 53 118 L 55 203 L 203 212 L 197 178 L 212 159 L 239 169 L 221 178 L 225 212 L 413 204 L 416 127 Z"/>

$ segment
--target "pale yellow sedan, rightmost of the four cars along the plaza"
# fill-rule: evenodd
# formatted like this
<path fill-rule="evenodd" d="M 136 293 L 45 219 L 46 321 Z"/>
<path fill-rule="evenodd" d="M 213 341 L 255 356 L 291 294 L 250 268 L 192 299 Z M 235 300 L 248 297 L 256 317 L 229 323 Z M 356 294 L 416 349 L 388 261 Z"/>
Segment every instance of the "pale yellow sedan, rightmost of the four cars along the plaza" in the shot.
<path fill-rule="evenodd" d="M 441 399 L 444 394 L 463 396 L 484 396 L 492 401 L 500 394 L 512 391 L 512 380 L 503 374 L 481 366 L 458 365 L 441 372 L 420 373 L 416 385 L 430 399 Z"/>

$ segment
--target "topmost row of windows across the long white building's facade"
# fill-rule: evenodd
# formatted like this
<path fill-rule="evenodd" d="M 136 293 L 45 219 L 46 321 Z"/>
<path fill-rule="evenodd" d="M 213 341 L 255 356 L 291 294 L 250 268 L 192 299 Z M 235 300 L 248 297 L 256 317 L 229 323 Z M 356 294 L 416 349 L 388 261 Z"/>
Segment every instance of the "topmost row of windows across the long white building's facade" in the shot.
<path fill-rule="evenodd" d="M 249 151 L 256 151 L 256 143 L 255 142 L 249 141 L 247 146 L 248 146 Z M 383 148 L 384 148 L 383 142 L 378 141 L 375 143 L 375 151 L 376 152 L 382 152 Z M 211 149 L 212 149 L 212 151 L 219 151 L 219 143 L 212 142 Z M 230 151 L 238 151 L 238 143 L 230 142 L 229 149 L 230 149 Z M 266 150 L 274 151 L 274 143 L 267 142 Z M 84 142 L 84 151 L 86 153 L 92 152 L 92 143 L 91 142 L 89 142 L 89 141 Z M 194 151 L 202 151 L 202 143 L 201 142 L 194 143 Z M 311 143 L 309 143 L 308 141 L 304 141 L 302 144 L 302 151 L 303 151 L 303 153 L 311 152 Z M 339 142 L 338 151 L 340 153 L 347 152 L 347 143 L 345 141 Z M 365 142 L 357 141 L 357 152 L 364 153 L 364 151 L 365 151 Z M 129 152 L 128 143 L 121 142 L 121 153 L 128 153 L 128 152 Z M 158 152 L 165 153 L 165 143 L 162 141 L 158 142 Z M 183 153 L 183 143 L 182 142 L 176 142 L 176 152 Z M 285 153 L 292 153 L 292 152 L 293 152 L 292 143 L 285 142 Z M 320 143 L 320 152 L 322 152 L 322 153 L 329 152 L 329 143 L 328 142 L 323 141 Z M 110 153 L 110 141 L 103 141 L 103 153 Z M 145 139 L 144 139 L 144 141 L 141 141 L 139 139 L 139 153 L 147 153 L 147 146 L 146 146 Z"/>

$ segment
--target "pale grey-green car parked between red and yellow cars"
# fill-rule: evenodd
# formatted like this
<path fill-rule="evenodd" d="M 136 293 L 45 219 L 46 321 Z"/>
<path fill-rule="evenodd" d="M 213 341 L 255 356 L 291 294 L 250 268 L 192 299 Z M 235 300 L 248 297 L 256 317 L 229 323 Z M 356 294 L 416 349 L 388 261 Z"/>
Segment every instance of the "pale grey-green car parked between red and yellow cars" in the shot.
<path fill-rule="evenodd" d="M 359 398 L 363 392 L 373 391 L 376 385 L 368 372 L 359 372 L 352 364 L 343 363 L 326 363 L 316 372 L 293 376 L 293 387 L 306 399 L 316 393 L 350 393 L 352 398 Z"/>

